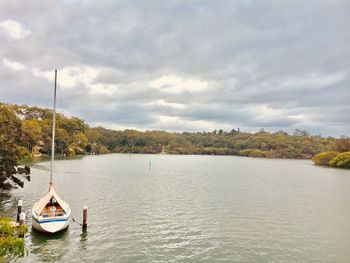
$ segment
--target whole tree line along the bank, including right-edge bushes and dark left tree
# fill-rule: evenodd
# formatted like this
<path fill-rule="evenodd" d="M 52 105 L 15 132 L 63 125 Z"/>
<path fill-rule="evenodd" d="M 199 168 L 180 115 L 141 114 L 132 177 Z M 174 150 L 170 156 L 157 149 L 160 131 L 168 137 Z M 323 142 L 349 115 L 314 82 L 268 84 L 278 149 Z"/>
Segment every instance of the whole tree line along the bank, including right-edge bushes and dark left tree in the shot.
<path fill-rule="evenodd" d="M 23 186 L 16 175 L 30 179 L 23 160 L 51 153 L 52 110 L 0 103 L 0 189 Z M 162 153 L 238 155 L 310 159 L 316 165 L 350 168 L 350 138 L 324 138 L 295 130 L 293 135 L 261 129 L 212 132 L 116 131 L 90 127 L 76 117 L 57 114 L 56 154 L 74 156 L 104 153 Z"/>

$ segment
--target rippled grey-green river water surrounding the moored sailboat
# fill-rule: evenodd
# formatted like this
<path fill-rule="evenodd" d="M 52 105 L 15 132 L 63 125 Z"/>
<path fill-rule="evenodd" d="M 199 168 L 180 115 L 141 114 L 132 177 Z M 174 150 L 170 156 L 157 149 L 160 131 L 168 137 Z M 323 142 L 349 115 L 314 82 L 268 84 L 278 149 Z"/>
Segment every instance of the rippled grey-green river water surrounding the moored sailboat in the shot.
<path fill-rule="evenodd" d="M 49 163 L 2 197 L 29 210 Z M 305 160 L 110 154 L 57 161 L 58 193 L 81 221 L 31 231 L 23 262 L 350 262 L 350 171 Z"/>

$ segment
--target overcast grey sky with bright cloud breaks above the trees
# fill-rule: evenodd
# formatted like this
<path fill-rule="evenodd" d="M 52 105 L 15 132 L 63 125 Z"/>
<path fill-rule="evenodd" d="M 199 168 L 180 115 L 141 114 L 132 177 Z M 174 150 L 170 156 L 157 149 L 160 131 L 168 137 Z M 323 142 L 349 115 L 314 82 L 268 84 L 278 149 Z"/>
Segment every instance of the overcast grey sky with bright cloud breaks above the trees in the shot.
<path fill-rule="evenodd" d="M 350 135 L 348 0 L 1 0 L 0 101 L 112 129 Z"/>

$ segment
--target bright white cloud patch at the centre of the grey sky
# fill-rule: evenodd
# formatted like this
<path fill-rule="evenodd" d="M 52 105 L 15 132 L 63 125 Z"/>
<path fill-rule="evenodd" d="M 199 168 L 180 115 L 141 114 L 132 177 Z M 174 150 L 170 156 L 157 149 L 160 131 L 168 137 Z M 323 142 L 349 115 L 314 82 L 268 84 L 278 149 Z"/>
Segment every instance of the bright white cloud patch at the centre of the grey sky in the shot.
<path fill-rule="evenodd" d="M 176 75 L 166 75 L 150 82 L 150 87 L 169 93 L 196 92 L 208 88 L 208 82 L 194 78 L 184 79 Z"/>

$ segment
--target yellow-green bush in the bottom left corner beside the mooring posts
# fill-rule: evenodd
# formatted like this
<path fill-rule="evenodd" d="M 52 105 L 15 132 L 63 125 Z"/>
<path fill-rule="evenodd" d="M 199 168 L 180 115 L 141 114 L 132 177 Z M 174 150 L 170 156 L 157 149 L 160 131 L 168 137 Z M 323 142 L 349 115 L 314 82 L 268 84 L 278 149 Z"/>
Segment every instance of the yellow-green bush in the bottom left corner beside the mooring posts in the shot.
<path fill-rule="evenodd" d="M 4 256 L 23 256 L 24 240 L 20 238 L 28 231 L 26 226 L 15 228 L 9 218 L 0 218 L 0 259 Z"/>

